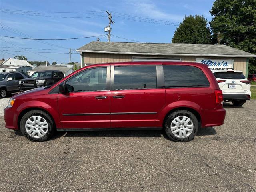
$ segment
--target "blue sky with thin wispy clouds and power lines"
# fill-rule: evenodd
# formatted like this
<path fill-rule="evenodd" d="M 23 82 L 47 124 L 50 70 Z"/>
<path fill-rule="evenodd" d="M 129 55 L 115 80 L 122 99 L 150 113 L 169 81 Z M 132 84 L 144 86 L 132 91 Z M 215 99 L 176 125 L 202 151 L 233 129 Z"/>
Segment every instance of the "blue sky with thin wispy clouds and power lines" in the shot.
<path fill-rule="evenodd" d="M 68 0 L 1 0 L 0 58 L 24 55 L 29 61 L 80 62 L 76 49 L 96 41 L 107 41 L 104 27 L 112 14 L 112 42 L 170 43 L 185 15 L 203 15 L 212 19 L 213 0 L 150 1 L 68 1 Z M 8 38 L 74 40 L 24 40 Z"/>

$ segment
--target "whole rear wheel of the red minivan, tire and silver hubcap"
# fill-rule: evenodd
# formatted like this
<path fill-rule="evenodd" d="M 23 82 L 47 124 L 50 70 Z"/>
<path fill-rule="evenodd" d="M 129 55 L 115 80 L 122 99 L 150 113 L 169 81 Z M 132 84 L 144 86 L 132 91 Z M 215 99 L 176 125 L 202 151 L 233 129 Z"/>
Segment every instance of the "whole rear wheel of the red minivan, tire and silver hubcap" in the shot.
<path fill-rule="evenodd" d="M 177 142 L 193 140 L 198 132 L 196 116 L 187 110 L 172 112 L 165 121 L 164 129 L 167 136 Z"/>

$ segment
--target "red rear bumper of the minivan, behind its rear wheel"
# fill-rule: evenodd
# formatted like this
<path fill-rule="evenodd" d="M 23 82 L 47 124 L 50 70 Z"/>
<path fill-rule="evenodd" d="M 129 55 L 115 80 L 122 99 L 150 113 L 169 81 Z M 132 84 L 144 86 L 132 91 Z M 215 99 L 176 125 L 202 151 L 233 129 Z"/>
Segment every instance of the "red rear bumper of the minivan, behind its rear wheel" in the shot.
<path fill-rule="evenodd" d="M 204 110 L 202 116 L 202 124 L 201 127 L 214 127 L 220 126 L 224 124 L 226 116 L 226 110 L 222 109 L 214 109 L 214 110 Z"/>

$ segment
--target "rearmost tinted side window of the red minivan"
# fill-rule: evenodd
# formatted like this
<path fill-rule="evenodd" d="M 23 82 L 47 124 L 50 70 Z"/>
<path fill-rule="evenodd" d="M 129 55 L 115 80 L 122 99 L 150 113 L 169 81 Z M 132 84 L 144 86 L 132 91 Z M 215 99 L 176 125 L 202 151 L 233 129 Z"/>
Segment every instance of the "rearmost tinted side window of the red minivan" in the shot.
<path fill-rule="evenodd" d="M 207 87 L 209 81 L 204 72 L 194 66 L 164 65 L 165 87 Z"/>

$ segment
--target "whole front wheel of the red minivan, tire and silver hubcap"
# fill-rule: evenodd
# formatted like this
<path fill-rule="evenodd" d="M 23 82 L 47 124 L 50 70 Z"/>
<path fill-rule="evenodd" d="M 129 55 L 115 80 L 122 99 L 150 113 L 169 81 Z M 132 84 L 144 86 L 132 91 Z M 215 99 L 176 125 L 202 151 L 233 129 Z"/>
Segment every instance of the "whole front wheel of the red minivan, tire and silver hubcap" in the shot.
<path fill-rule="evenodd" d="M 54 123 L 46 112 L 32 110 L 22 117 L 20 131 L 30 141 L 46 141 L 54 132 Z"/>

